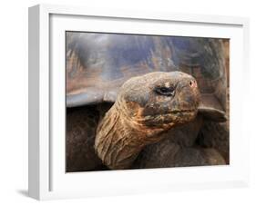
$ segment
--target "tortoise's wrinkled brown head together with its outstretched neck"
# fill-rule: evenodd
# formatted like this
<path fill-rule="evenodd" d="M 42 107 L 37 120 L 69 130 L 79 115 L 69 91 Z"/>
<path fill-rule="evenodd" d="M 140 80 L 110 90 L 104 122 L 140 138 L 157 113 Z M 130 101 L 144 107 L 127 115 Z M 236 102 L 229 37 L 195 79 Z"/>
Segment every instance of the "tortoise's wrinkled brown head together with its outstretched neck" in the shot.
<path fill-rule="evenodd" d="M 193 121 L 200 92 L 186 73 L 148 73 L 124 83 L 118 100 L 97 127 L 95 149 L 110 169 L 128 169 L 148 144 Z"/>

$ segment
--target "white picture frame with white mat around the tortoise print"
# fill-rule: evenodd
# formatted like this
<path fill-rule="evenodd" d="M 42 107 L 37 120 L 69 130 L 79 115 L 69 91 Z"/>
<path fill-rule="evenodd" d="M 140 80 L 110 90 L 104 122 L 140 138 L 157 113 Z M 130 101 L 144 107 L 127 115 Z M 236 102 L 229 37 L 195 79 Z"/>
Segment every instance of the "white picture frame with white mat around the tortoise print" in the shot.
<path fill-rule="evenodd" d="M 230 165 L 67 174 L 65 147 L 62 146 L 65 134 L 65 71 L 53 68 L 65 67 L 63 32 L 85 29 L 230 38 Z M 30 7 L 29 196 L 50 200 L 247 186 L 249 162 L 245 159 L 249 157 L 249 137 L 244 134 L 242 126 L 242 108 L 246 104 L 242 101 L 241 84 L 246 83 L 249 73 L 248 29 L 249 20 L 241 17 L 141 13 L 65 5 Z"/>

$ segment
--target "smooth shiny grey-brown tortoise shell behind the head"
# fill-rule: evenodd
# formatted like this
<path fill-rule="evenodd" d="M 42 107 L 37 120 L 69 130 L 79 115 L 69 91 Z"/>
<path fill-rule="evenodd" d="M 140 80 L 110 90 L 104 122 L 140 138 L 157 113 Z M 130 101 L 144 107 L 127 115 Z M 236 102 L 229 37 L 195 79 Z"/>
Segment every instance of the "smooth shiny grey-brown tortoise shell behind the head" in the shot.
<path fill-rule="evenodd" d="M 133 76 L 181 71 L 198 81 L 200 111 L 223 121 L 223 44 L 217 38 L 67 32 L 67 107 L 115 102 L 119 87 Z"/>

